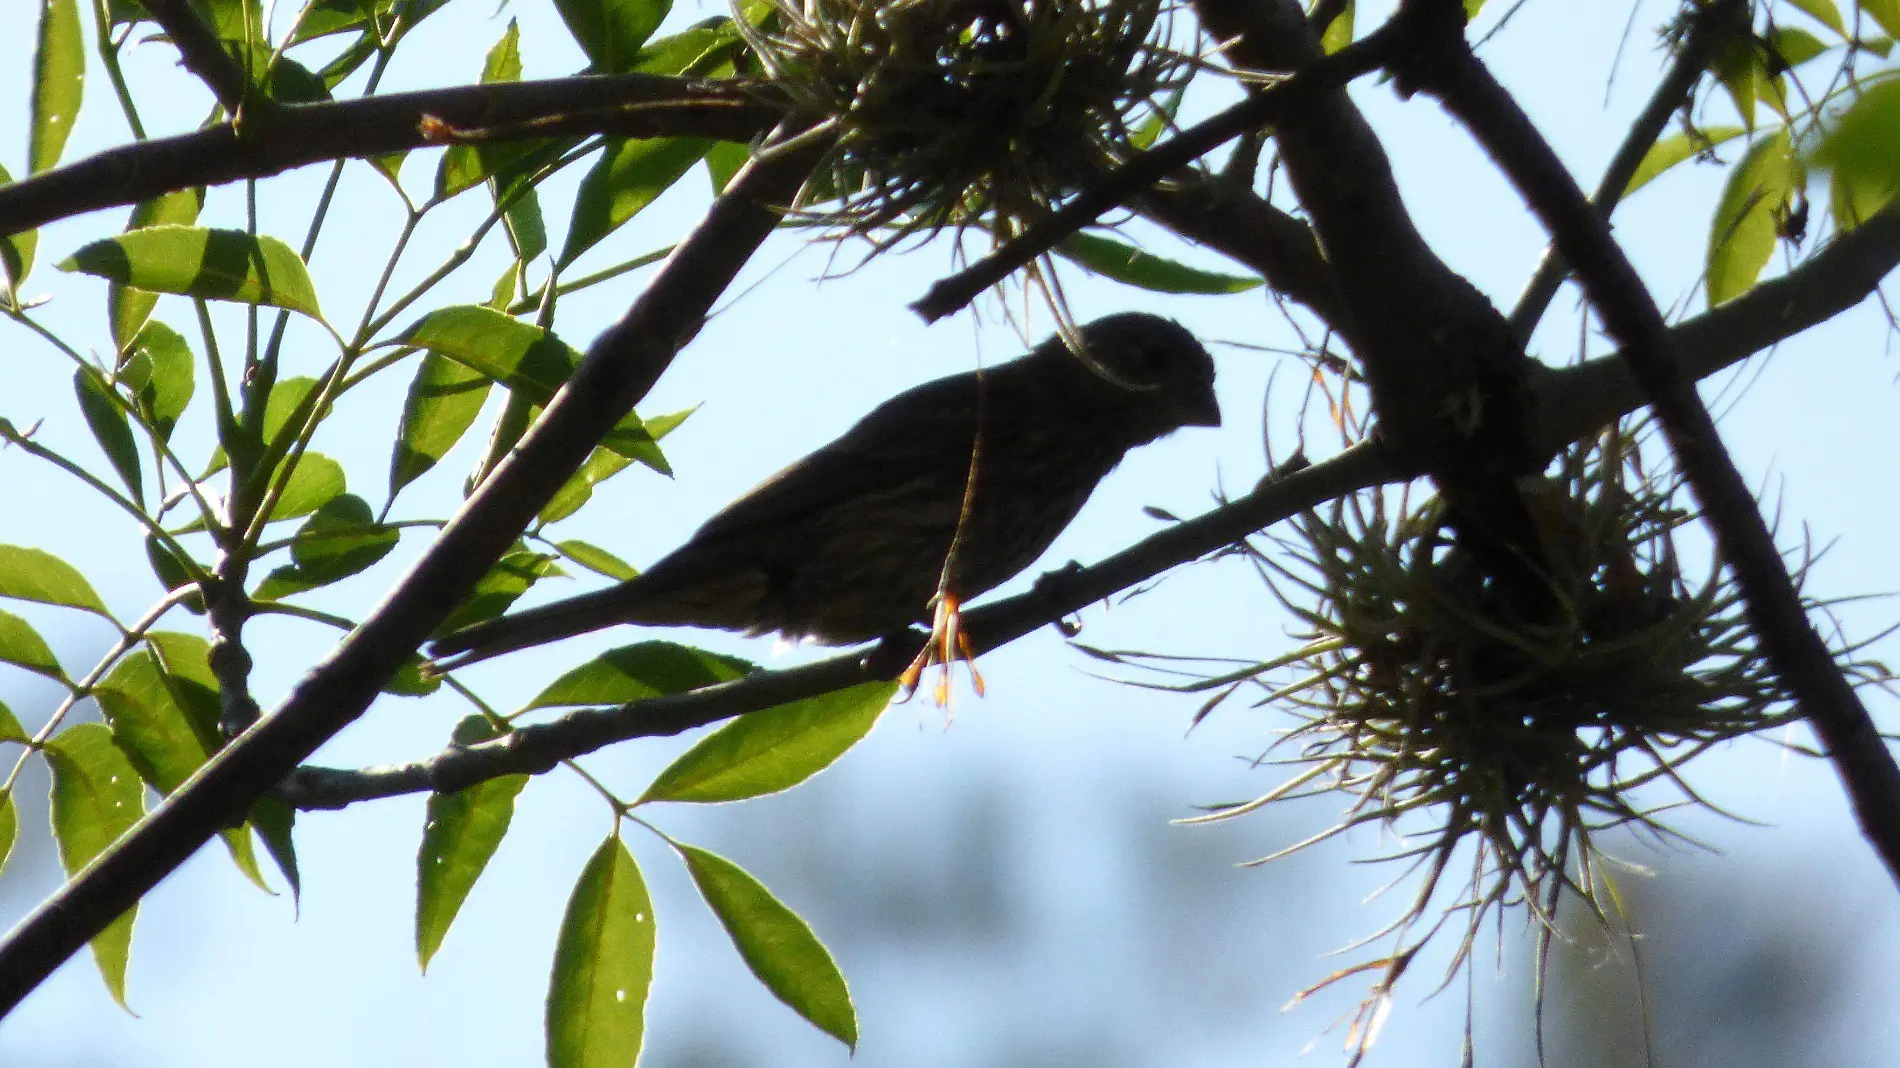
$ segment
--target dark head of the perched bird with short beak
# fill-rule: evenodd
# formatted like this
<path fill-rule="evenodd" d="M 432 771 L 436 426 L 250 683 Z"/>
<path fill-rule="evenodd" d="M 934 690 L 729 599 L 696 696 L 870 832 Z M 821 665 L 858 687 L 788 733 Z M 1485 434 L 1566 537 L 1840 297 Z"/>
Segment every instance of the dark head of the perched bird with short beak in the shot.
<path fill-rule="evenodd" d="M 1089 376 L 1150 416 L 1155 435 L 1220 426 L 1214 359 L 1186 327 L 1146 312 L 1106 315 L 1081 329 Z M 1060 346 L 1058 338 L 1053 344 Z"/>

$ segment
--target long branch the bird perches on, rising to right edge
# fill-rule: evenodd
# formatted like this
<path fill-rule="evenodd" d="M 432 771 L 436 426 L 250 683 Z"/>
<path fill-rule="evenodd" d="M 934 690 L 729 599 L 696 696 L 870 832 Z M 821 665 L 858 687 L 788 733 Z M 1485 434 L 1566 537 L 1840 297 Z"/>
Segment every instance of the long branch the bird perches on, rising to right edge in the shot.
<path fill-rule="evenodd" d="M 1788 276 L 1761 283 L 1746 296 L 1674 327 L 1670 338 L 1697 374 L 1714 374 L 1866 300 L 1881 277 L 1896 266 L 1900 266 L 1900 205 L 1887 207 Z M 1539 428 L 1539 441 L 1552 452 L 1594 435 L 1645 403 L 1621 355 L 1547 371 L 1537 376 L 1537 395 L 1539 410 L 1552 414 L 1552 422 Z M 1391 469 L 1376 450 L 1360 447 L 1206 515 L 1168 526 L 1083 572 L 1058 572 L 1058 582 L 1053 585 L 977 608 L 967 620 L 977 629 L 980 646 L 996 648 L 1102 597 L 1148 582 L 1170 566 L 1298 515 L 1315 502 L 1408 477 L 1406 471 Z M 408 764 L 359 772 L 300 768 L 279 792 L 298 808 L 323 810 L 393 794 L 454 791 L 498 775 L 543 772 L 559 758 L 581 756 L 614 741 L 673 735 L 889 677 L 887 665 L 893 656 L 899 667 L 908 661 L 908 652 L 895 648 L 878 650 L 870 659 L 846 654 L 787 671 L 762 671 L 690 694 L 635 701 L 608 711 L 568 713 L 522 728 L 505 739 L 446 749 Z"/>

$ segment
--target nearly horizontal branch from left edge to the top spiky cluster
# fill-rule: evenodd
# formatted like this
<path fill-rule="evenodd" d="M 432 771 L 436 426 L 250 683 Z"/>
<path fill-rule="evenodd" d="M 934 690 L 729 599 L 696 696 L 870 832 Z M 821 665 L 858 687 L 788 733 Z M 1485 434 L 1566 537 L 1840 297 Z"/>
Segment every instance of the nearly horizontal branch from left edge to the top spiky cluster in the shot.
<path fill-rule="evenodd" d="M 0 236 L 154 196 L 262 179 L 308 163 L 422 148 L 426 116 L 496 139 L 606 133 L 750 141 L 783 110 L 737 82 L 608 74 L 458 86 L 327 105 L 283 105 L 268 116 L 108 148 L 0 186 Z"/>

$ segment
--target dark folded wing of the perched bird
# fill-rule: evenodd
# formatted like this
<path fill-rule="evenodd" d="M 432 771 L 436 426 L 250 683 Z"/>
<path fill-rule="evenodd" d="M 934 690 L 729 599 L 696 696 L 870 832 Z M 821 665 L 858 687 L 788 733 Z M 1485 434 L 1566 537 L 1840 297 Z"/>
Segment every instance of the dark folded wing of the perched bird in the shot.
<path fill-rule="evenodd" d="M 961 471 L 975 426 L 973 388 L 973 376 L 958 374 L 891 397 L 844 437 L 722 507 L 692 540 L 756 534 L 912 479 Z"/>

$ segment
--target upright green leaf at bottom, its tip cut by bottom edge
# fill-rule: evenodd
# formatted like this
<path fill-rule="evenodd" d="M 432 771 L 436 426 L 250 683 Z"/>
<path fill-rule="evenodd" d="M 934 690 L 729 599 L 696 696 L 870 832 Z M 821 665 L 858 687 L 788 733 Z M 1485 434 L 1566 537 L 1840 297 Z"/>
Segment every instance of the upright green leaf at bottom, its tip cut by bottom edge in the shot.
<path fill-rule="evenodd" d="M 547 1066 L 633 1064 L 652 982 L 654 905 L 633 853 L 608 838 L 581 868 L 560 920 L 547 988 Z"/>

